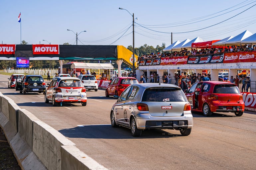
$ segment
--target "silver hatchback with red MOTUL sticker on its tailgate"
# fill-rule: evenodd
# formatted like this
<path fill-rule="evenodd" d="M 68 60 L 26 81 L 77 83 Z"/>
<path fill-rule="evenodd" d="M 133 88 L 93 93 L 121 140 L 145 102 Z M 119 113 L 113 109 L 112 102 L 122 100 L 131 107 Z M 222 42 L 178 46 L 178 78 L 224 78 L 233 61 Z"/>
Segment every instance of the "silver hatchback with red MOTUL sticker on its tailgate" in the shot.
<path fill-rule="evenodd" d="M 128 86 L 110 112 L 112 127 L 124 126 L 138 137 L 145 129 L 175 129 L 188 136 L 191 106 L 177 85 L 142 83 Z"/>

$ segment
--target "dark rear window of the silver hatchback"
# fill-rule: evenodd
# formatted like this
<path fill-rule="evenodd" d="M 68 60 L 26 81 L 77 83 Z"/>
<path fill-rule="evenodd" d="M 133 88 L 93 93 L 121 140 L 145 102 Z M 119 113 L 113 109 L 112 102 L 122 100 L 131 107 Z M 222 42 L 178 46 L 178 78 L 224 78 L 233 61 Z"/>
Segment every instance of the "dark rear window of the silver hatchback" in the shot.
<path fill-rule="evenodd" d="M 142 101 L 187 101 L 186 96 L 180 88 L 162 87 L 162 88 L 148 88 L 144 91 Z"/>

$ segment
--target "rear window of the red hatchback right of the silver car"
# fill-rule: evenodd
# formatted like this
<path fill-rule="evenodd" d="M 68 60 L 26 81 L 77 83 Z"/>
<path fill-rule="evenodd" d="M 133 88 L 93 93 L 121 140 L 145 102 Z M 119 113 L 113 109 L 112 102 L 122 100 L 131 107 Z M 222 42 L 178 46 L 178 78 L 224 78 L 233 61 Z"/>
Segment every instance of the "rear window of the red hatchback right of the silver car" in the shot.
<path fill-rule="evenodd" d="M 236 85 L 215 85 L 213 93 L 240 94 L 240 91 Z"/>

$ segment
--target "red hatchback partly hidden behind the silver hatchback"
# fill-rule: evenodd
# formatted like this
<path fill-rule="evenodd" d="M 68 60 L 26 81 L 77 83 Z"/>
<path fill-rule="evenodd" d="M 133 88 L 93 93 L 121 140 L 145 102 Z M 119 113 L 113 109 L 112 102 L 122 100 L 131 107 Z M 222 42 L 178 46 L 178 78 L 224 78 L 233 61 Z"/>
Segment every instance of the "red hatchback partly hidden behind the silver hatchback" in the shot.
<path fill-rule="evenodd" d="M 115 77 L 106 88 L 106 97 L 120 96 L 129 85 L 138 83 L 134 77 Z"/>

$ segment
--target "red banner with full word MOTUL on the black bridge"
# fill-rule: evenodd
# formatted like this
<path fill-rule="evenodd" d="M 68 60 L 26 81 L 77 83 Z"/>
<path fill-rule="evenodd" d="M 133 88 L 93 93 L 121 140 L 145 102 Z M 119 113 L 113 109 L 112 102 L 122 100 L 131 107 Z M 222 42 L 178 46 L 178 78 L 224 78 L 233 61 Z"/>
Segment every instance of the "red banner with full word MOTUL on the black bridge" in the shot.
<path fill-rule="evenodd" d="M 32 44 L 33 54 L 60 54 L 59 45 Z"/>

